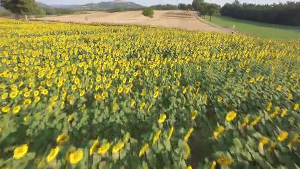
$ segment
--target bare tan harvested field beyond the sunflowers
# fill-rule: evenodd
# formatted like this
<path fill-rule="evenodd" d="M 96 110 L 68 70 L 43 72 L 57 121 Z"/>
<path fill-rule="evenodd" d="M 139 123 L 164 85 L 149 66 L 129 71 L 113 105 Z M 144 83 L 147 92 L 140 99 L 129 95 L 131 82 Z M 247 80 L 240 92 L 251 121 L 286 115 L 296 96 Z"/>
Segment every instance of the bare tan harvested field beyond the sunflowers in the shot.
<path fill-rule="evenodd" d="M 88 20 L 86 20 L 86 18 Z M 150 25 L 166 28 L 179 28 L 203 32 L 228 32 L 225 29 L 213 27 L 201 21 L 194 11 L 155 10 L 154 18 L 148 19 L 142 11 L 129 12 L 90 12 L 89 14 L 75 14 L 64 16 L 49 16 L 38 20 L 76 23 L 107 23 L 107 24 L 135 24 Z"/>

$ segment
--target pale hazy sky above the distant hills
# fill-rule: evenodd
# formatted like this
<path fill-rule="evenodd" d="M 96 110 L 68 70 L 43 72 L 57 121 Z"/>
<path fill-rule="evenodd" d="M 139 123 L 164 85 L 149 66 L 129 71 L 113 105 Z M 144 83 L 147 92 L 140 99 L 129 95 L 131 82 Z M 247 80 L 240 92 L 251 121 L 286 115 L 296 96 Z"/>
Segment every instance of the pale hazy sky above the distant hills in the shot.
<path fill-rule="evenodd" d="M 86 4 L 86 3 L 97 3 L 101 1 L 112 1 L 112 0 L 36 0 L 46 4 Z M 150 6 L 153 4 L 178 4 L 178 3 L 191 3 L 192 0 L 127 0 L 132 1 L 141 5 Z M 233 0 L 205 0 L 206 2 L 218 3 L 220 5 L 225 4 L 226 2 L 233 2 Z M 285 2 L 287 0 L 239 0 L 240 2 L 251 2 L 251 3 L 278 3 Z M 293 1 L 293 0 L 291 0 Z M 295 0 L 300 1 L 300 0 Z"/>

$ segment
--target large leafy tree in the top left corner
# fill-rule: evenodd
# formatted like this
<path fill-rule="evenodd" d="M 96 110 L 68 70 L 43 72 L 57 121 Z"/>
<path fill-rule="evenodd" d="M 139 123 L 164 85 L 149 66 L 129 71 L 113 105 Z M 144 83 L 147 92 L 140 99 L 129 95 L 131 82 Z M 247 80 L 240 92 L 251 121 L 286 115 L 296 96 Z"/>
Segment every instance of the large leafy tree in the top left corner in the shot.
<path fill-rule="evenodd" d="M 37 10 L 35 0 L 0 0 L 1 6 L 10 10 L 18 18 L 19 15 L 31 14 Z"/>

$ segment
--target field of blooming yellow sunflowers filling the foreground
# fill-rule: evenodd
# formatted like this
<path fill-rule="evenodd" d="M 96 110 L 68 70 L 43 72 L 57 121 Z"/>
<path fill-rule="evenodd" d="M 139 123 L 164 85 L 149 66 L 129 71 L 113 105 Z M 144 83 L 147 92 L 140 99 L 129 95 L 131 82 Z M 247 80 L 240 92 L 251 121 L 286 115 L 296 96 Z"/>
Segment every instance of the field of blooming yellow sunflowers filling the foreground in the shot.
<path fill-rule="evenodd" d="M 0 168 L 300 168 L 300 40 L 0 19 Z"/>

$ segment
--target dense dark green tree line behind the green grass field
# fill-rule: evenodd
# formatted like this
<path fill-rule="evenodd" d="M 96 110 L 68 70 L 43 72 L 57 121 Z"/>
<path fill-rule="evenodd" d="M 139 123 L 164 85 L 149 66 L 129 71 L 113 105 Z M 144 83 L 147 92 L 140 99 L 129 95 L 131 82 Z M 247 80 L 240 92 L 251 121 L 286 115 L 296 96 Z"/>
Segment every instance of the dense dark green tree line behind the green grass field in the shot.
<path fill-rule="evenodd" d="M 300 26 L 300 2 L 278 4 L 226 3 L 221 8 L 221 15 L 271 24 Z"/>

